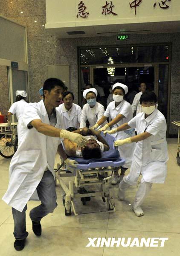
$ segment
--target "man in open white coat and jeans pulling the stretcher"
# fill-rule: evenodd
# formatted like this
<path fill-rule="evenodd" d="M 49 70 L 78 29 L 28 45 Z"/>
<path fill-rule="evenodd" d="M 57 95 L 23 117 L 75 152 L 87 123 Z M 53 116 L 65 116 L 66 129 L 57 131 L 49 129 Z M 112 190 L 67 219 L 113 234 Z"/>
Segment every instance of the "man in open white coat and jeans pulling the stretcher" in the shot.
<path fill-rule="evenodd" d="M 58 107 L 64 83 L 55 78 L 44 82 L 44 99 L 29 103 L 23 114 L 20 131 L 20 144 L 12 157 L 9 169 L 9 186 L 3 201 L 12 207 L 15 222 L 14 247 L 22 250 L 28 236 L 26 231 L 26 209 L 29 199 L 38 194 L 41 205 L 30 211 L 32 230 L 41 236 L 41 218 L 53 212 L 56 203 L 55 154 L 58 150 L 67 165 L 77 162 L 67 158 L 60 138 L 68 138 L 80 146 L 87 140 L 80 134 L 61 129 L 62 120 L 55 107 Z"/>

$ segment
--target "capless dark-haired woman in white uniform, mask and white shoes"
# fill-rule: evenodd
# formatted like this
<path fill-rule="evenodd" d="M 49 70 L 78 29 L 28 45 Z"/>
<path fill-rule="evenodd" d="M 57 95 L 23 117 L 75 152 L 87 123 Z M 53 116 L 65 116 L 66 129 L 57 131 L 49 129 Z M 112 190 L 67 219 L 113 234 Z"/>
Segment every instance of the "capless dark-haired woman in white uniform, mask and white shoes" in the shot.
<path fill-rule="evenodd" d="M 118 193 L 119 200 L 123 200 L 125 189 L 130 185 L 136 185 L 139 175 L 142 175 L 132 208 L 136 216 L 144 215 L 140 206 L 150 192 L 152 184 L 164 183 L 168 160 L 166 121 L 163 114 L 155 108 L 157 96 L 154 92 L 143 93 L 140 104 L 143 112 L 114 131 L 124 131 L 131 127 L 137 129 L 138 135 L 114 143 L 115 146 L 121 146 L 137 142 L 130 173 L 119 183 Z"/>

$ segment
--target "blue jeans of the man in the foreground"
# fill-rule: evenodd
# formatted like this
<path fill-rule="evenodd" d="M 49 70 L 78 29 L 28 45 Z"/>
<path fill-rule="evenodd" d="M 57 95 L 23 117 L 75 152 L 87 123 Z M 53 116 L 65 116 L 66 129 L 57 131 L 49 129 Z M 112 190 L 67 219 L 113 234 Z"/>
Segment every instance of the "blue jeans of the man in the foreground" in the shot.
<path fill-rule="evenodd" d="M 41 204 L 33 208 L 29 216 L 32 221 L 40 222 L 41 218 L 46 216 L 49 212 L 53 212 L 57 207 L 56 192 L 55 192 L 55 180 L 50 171 L 44 172 L 44 175 L 37 186 L 38 197 Z M 24 207 L 22 212 L 12 208 L 12 215 L 15 223 L 14 236 L 19 239 L 26 239 L 28 232 L 26 231 L 26 209 Z"/>

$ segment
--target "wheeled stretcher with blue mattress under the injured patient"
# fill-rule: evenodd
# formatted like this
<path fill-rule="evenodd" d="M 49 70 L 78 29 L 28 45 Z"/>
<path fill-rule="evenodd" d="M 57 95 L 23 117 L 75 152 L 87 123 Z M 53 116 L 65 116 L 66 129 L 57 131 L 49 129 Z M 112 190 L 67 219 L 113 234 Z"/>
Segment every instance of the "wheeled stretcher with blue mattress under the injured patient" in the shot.
<path fill-rule="evenodd" d="M 106 210 L 103 212 L 114 212 L 115 204 L 113 199 L 113 188 L 109 186 L 112 173 L 115 169 L 119 169 L 124 165 L 125 159 L 119 156 L 119 151 L 114 147 L 115 138 L 109 134 L 104 136 L 110 146 L 109 151 L 102 153 L 101 159 L 84 160 L 83 158 L 70 157 L 78 162 L 75 169 L 61 169 L 57 166 L 56 178 L 64 190 L 63 204 L 65 208 L 65 215 L 71 215 L 73 210 L 74 215 L 96 211 L 77 213 L 75 209 L 74 200 L 81 200 L 83 205 L 90 204 L 91 198 L 102 197 L 103 204 L 106 204 Z M 69 187 L 64 181 L 64 177 L 74 177 L 74 180 L 69 180 Z M 88 190 L 87 190 L 88 187 Z M 92 187 L 93 189 L 90 189 Z M 98 189 L 94 189 L 94 187 Z M 87 203 L 88 202 L 88 203 Z"/>

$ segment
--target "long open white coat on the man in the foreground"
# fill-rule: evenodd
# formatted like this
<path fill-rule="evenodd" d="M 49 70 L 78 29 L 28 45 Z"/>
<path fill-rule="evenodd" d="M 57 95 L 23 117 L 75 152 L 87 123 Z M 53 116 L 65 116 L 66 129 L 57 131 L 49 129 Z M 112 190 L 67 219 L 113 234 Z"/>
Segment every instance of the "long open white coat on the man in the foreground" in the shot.
<path fill-rule="evenodd" d="M 56 117 L 55 127 L 61 128 L 62 120 L 58 111 L 56 111 Z M 28 129 L 27 125 L 34 119 L 41 119 L 42 122 L 49 124 L 43 100 L 38 103 L 29 103 L 24 110 L 21 128 L 22 140 L 12 157 L 9 167 L 9 186 L 3 196 L 3 201 L 6 204 L 20 212 L 36 191 L 46 167 L 55 177 L 55 154 L 61 143 L 60 138 L 45 136 L 35 128 Z"/>

